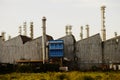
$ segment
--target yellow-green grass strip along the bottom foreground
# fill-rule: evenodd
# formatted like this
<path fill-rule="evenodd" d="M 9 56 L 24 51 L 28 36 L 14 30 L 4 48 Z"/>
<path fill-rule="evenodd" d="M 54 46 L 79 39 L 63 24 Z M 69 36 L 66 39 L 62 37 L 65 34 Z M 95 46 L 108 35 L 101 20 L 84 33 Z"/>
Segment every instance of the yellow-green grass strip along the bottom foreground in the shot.
<path fill-rule="evenodd" d="M 1 74 L 0 80 L 120 80 L 120 72 L 46 72 Z"/>

